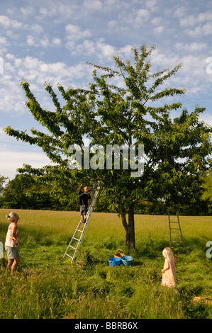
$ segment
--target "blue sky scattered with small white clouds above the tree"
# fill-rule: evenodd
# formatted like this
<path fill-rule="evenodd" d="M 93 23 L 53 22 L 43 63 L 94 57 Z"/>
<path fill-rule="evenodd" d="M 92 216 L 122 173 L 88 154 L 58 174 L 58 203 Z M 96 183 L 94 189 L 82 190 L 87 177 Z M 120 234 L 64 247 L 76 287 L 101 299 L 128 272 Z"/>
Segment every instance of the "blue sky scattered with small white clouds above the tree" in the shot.
<path fill-rule="evenodd" d="M 86 87 L 92 81 L 87 61 L 112 66 L 113 55 L 128 59 L 131 47 L 143 43 L 156 45 L 152 70 L 182 63 L 169 84 L 186 89 L 177 99 L 184 108 L 206 107 L 201 120 L 212 125 L 212 1 L 1 0 L 0 5 L 1 176 L 13 179 L 23 163 L 49 163 L 39 147 L 2 130 L 8 125 L 28 132 L 41 129 L 25 106 L 21 79 L 52 111 L 45 81 L 55 92 L 57 83 Z"/>

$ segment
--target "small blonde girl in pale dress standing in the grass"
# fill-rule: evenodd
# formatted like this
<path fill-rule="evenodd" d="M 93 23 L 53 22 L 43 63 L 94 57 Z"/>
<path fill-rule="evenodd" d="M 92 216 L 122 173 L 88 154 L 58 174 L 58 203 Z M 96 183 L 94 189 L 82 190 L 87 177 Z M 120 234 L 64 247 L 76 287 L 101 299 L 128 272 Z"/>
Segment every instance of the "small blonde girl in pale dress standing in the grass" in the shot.
<path fill-rule="evenodd" d="M 173 256 L 172 250 L 169 249 L 169 247 L 165 247 L 162 255 L 165 258 L 164 268 L 161 271 L 162 286 L 167 286 L 168 288 L 174 288 L 177 290 L 175 273 L 175 264 L 177 263 L 176 254 Z"/>

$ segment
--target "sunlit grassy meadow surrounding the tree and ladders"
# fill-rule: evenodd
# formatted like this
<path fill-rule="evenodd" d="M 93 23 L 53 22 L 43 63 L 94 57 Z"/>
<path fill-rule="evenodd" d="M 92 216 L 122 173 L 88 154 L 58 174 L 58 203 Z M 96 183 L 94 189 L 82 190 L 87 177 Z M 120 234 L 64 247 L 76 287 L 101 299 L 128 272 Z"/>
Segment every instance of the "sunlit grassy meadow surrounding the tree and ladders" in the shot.
<path fill-rule="evenodd" d="M 0 210 L 0 240 L 9 222 Z M 212 241 L 210 216 L 180 216 L 184 242 L 174 244 L 177 288 L 161 286 L 169 246 L 167 216 L 135 215 L 135 250 L 125 248 L 121 218 L 92 213 L 77 254 L 83 265 L 63 258 L 79 222 L 78 212 L 15 210 L 20 216 L 21 256 L 11 276 L 0 259 L 1 319 L 211 319 Z M 117 249 L 133 256 L 132 266 L 111 267 Z M 211 250 L 212 252 L 212 250 Z M 198 299 L 197 302 L 194 298 Z"/>

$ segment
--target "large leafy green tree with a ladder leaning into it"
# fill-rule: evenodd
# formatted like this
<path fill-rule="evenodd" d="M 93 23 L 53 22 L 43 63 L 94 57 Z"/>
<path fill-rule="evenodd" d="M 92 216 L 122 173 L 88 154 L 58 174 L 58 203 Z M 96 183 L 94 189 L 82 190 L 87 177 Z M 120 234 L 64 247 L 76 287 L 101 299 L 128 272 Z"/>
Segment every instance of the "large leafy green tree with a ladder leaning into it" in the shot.
<path fill-rule="evenodd" d="M 40 106 L 30 84 L 21 82 L 28 101 L 26 106 L 35 120 L 48 129 L 48 134 L 32 129 L 31 134 L 7 127 L 4 131 L 17 140 L 42 147 L 45 154 L 57 164 L 39 169 L 37 174 L 52 179 L 52 190 L 65 198 L 67 188 L 76 190 L 77 182 L 84 184 L 99 177 L 101 196 L 121 215 L 125 228 L 125 242 L 135 247 L 134 207 L 144 198 L 151 201 L 180 203 L 200 196 L 201 174 L 208 168 L 211 152 L 211 128 L 199 120 L 205 108 L 196 106 L 189 113 L 182 103 L 162 103 L 163 98 L 179 96 L 184 89 L 164 88 L 164 83 L 179 68 L 152 73 L 149 57 L 153 47 L 142 45 L 132 49 L 133 61 L 123 62 L 115 56 L 113 69 L 94 66 L 93 79 L 88 89 L 65 89 L 58 85 L 64 98 L 61 106 L 50 84 L 45 84 L 55 106 L 46 111 Z M 118 81 L 118 84 L 116 82 Z M 173 111 L 180 111 L 172 119 Z M 144 146 L 144 173 L 132 177 L 130 169 L 69 169 L 69 146 L 83 149 L 84 137 L 90 146 L 139 145 Z M 91 154 L 95 157 L 95 154 Z M 123 161 L 123 155 L 121 155 Z M 106 160 L 106 155 L 104 155 Z M 83 161 L 84 162 L 84 161 Z M 137 160 L 138 162 L 138 160 Z M 29 172 L 29 168 L 27 170 Z M 24 172 L 24 168 L 22 169 Z M 35 170 L 33 170 L 35 172 Z M 127 220 L 128 216 L 128 220 Z"/>

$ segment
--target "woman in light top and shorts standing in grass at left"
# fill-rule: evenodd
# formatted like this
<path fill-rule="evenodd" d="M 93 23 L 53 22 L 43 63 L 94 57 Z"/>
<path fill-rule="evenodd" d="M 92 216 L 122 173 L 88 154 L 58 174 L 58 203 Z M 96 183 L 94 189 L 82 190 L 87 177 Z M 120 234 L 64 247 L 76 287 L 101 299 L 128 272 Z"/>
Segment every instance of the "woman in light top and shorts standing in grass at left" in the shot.
<path fill-rule="evenodd" d="M 17 223 L 19 220 L 18 214 L 12 212 L 6 215 L 7 220 L 9 220 L 10 225 L 6 234 L 5 250 L 8 257 L 7 269 L 11 269 L 11 273 L 16 269 L 18 262 L 20 261 L 20 256 L 18 253 L 18 246 L 20 244 L 19 232 Z"/>

